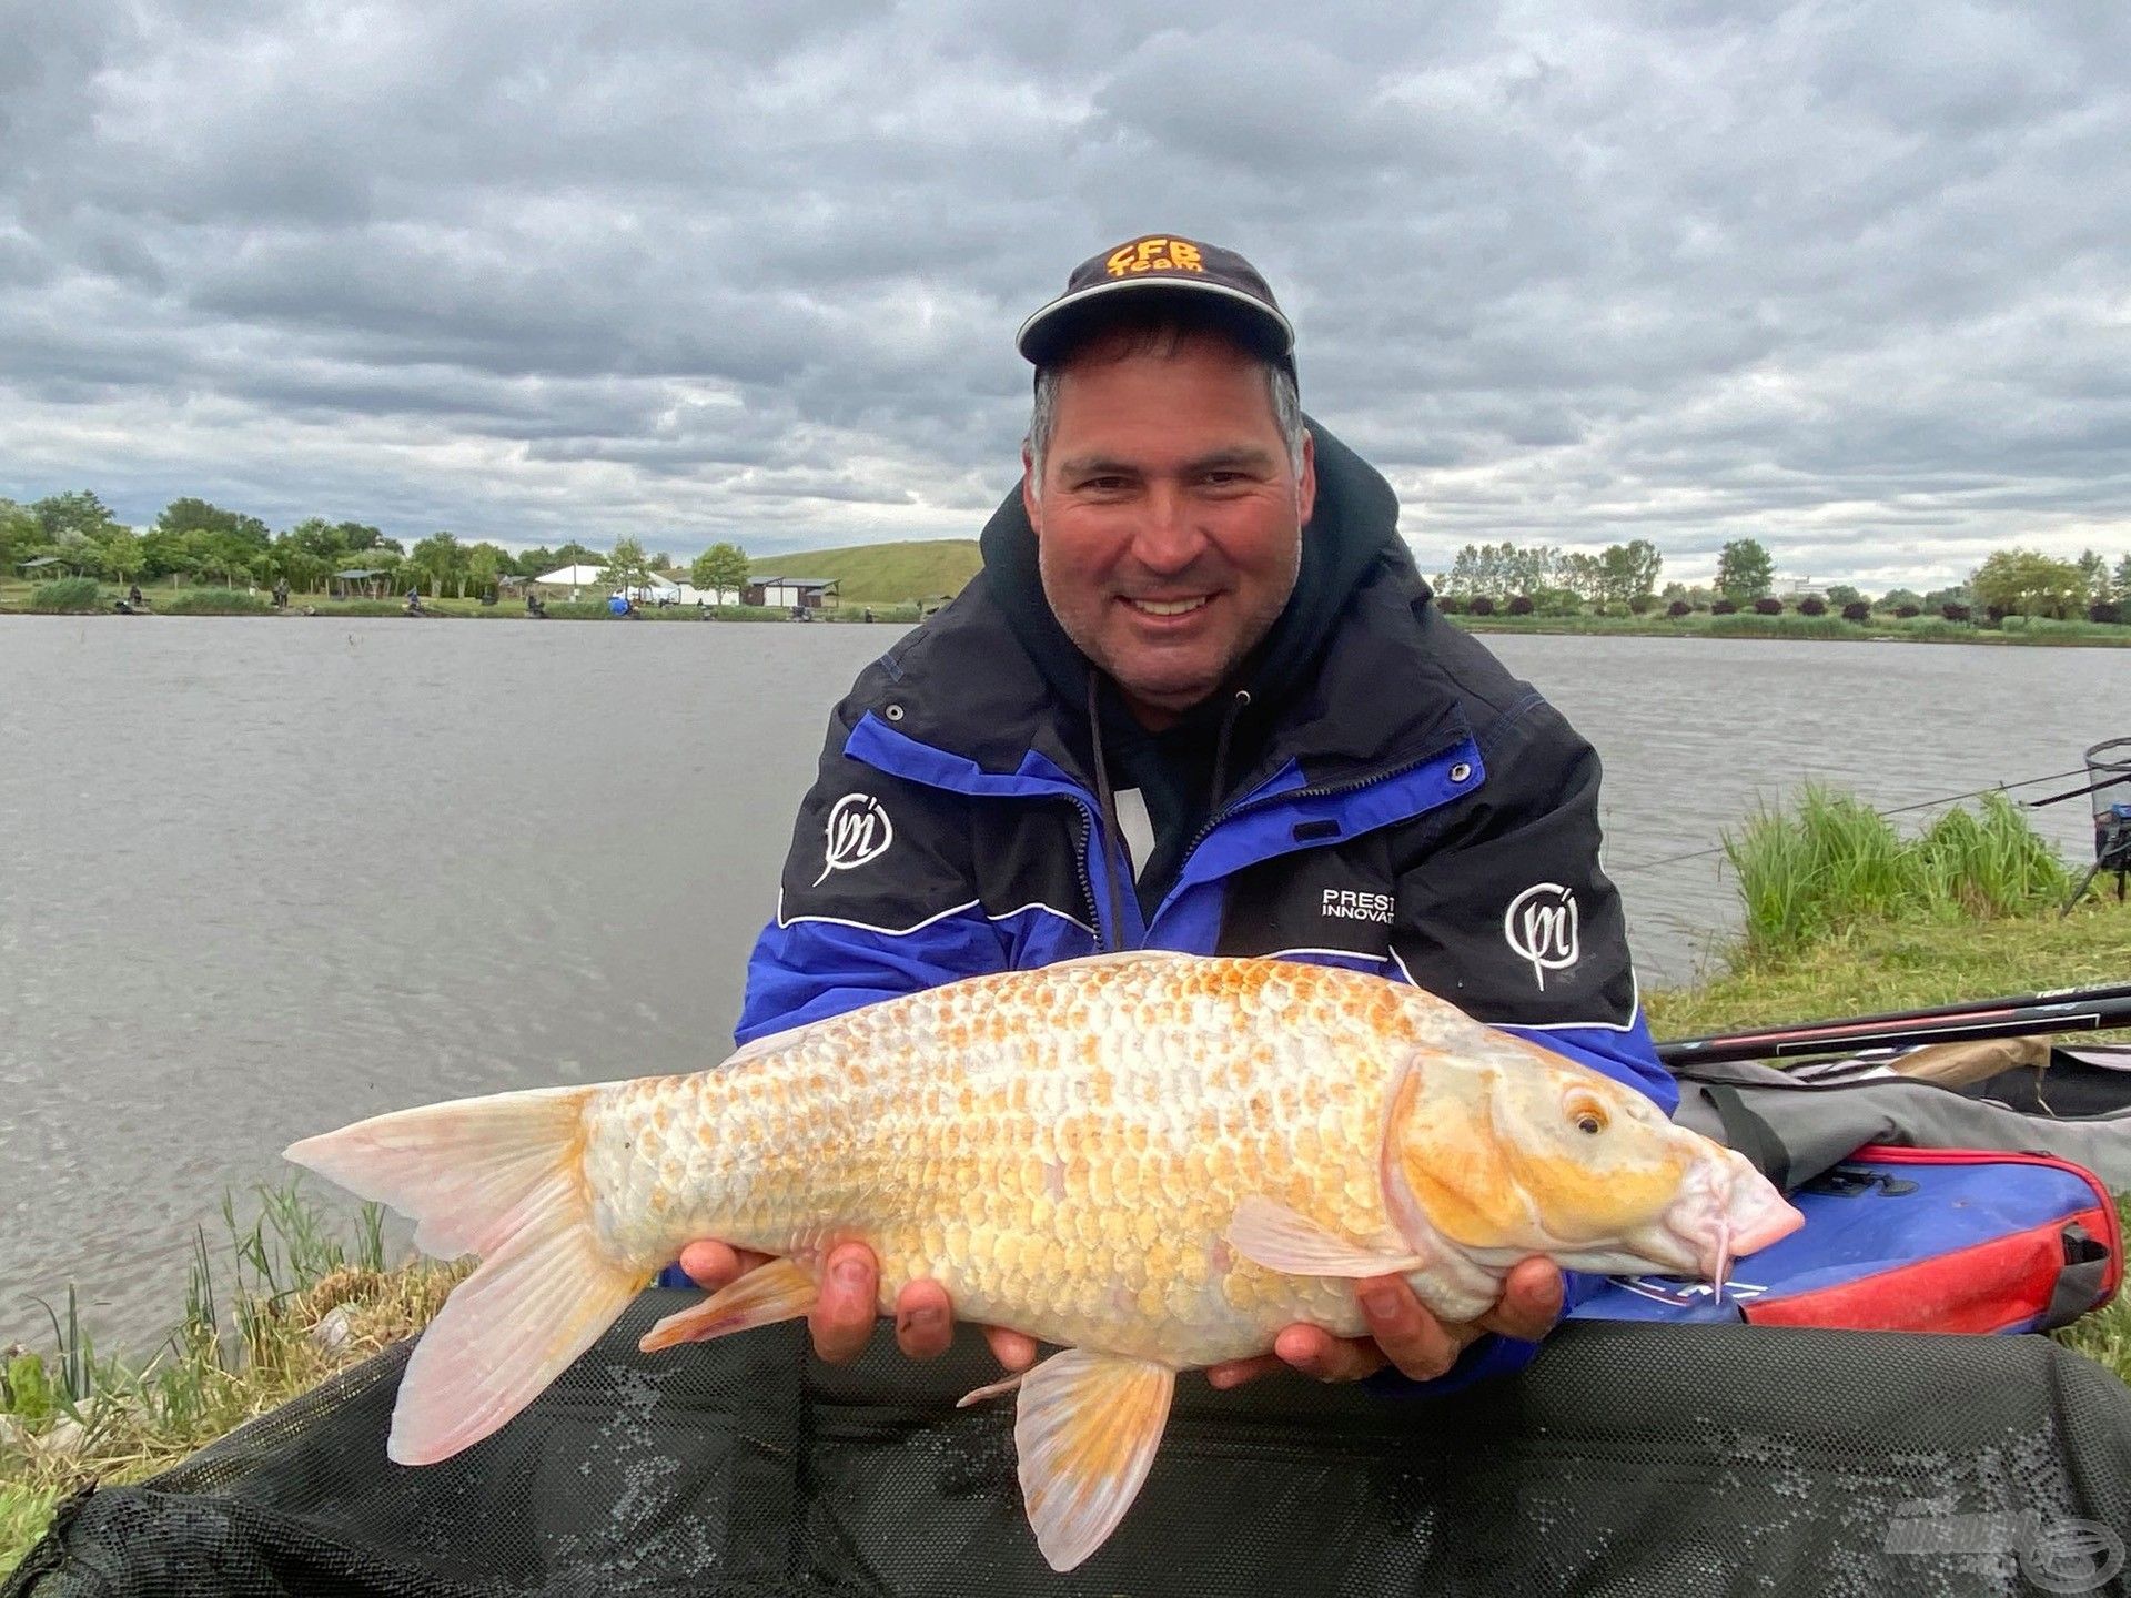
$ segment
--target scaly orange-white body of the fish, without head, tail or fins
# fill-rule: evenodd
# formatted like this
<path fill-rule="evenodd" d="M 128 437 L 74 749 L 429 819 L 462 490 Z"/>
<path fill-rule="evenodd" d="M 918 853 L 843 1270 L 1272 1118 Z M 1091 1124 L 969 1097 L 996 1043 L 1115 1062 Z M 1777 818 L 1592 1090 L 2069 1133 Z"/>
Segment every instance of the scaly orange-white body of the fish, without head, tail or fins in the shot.
<path fill-rule="evenodd" d="M 857 1238 L 884 1310 L 931 1276 L 963 1317 L 1174 1364 L 1296 1319 L 1351 1336 L 1351 1287 L 1221 1234 L 1266 1193 L 1389 1238 L 1381 1099 L 1432 1001 L 1385 993 L 1330 967 L 1132 961 L 872 1006 L 595 1093 L 595 1214 L 646 1263 L 693 1238 L 799 1257 Z"/>

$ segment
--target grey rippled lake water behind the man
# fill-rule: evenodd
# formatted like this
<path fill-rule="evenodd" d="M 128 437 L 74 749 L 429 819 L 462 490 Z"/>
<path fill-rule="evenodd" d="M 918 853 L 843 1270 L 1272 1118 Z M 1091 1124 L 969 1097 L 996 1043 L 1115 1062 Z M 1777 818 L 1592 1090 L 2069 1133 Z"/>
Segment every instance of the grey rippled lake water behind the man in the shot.
<path fill-rule="evenodd" d="M 827 710 L 893 637 L 0 620 L 0 1342 L 49 1347 L 68 1278 L 107 1340 L 160 1334 L 194 1225 L 298 1136 L 720 1059 Z M 2131 650 L 1487 643 L 1598 746 L 1658 984 L 1733 906 L 1715 857 L 1649 863 L 1756 799 L 1905 805 L 2131 733 Z M 2041 812 L 2071 859 L 2086 816 Z"/>

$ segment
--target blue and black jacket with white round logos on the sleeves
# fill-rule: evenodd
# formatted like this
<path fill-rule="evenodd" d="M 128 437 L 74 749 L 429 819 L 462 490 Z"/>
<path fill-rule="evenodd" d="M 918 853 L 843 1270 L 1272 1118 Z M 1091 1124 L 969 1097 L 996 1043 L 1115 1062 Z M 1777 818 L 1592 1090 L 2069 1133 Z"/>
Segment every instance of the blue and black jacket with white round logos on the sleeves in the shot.
<path fill-rule="evenodd" d="M 831 716 L 742 1042 L 987 972 L 1174 948 L 1417 982 L 1673 1108 L 1598 871 L 1596 752 L 1443 620 L 1389 486 L 1313 433 L 1304 573 L 1270 654 L 1219 695 L 1219 793 L 1159 897 L 1142 906 L 1115 825 L 1102 695 L 1066 692 L 1070 643 L 1036 631 L 1010 496 L 987 569 Z M 1253 695 L 1279 658 L 1300 669 Z M 1447 1381 L 1524 1355 L 1483 1340 Z"/>

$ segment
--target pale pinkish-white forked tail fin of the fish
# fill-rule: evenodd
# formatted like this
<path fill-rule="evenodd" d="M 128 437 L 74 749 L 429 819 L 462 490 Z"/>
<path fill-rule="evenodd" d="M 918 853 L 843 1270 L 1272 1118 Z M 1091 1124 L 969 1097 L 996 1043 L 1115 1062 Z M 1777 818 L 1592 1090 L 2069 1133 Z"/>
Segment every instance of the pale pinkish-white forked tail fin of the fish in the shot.
<path fill-rule="evenodd" d="M 482 1268 L 422 1334 L 388 1453 L 435 1464 L 531 1404 L 652 1272 L 607 1257 L 584 1187 L 588 1087 L 430 1104 L 305 1138 L 288 1159 L 416 1221 L 428 1255 Z"/>

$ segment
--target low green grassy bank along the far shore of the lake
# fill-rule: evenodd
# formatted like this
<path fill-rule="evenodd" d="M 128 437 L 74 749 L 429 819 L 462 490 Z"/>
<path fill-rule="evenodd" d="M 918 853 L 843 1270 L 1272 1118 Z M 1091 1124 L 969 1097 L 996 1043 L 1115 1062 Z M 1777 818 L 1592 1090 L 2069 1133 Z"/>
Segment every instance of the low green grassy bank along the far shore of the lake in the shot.
<path fill-rule="evenodd" d="M 60 590 L 60 592 L 53 592 Z M 546 618 L 526 616 L 522 599 L 479 599 L 422 597 L 422 616 L 407 616 L 405 599 L 330 599 L 326 594 L 290 594 L 288 609 L 275 609 L 266 590 L 258 588 L 143 588 L 149 616 L 260 616 L 294 620 L 335 618 L 379 618 L 401 620 L 437 618 L 479 618 L 479 620 L 554 620 L 554 622 L 788 622 L 791 609 L 780 605 L 639 605 L 635 616 L 614 616 L 605 599 L 548 601 Z M 60 580 L 51 584 L 23 584 L 0 580 L 0 616 L 121 616 L 117 601 L 126 588 L 90 577 Z M 861 601 L 812 612 L 810 620 L 863 624 L 872 612 L 876 622 L 910 626 L 938 609 L 948 594 L 929 601 Z M 1943 616 L 1892 616 L 1873 612 L 1865 620 L 1841 616 L 1805 616 L 1782 612 L 1775 616 L 1741 609 L 1728 616 L 1690 612 L 1666 616 L 1513 616 L 1494 612 L 1475 616 L 1466 609 L 1445 607 L 1453 626 L 1468 633 L 1526 633 L 1562 637 L 1694 637 L 1694 639 L 1773 639 L 1811 643 L 1984 643 L 1984 646 L 2046 646 L 2046 648 L 2131 648 L 2131 624 L 2122 622 L 2078 622 L 2052 620 L 2046 616 L 2003 616 L 1990 620 L 1948 620 Z"/>

